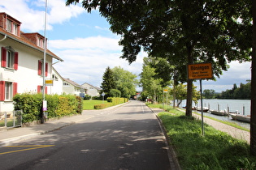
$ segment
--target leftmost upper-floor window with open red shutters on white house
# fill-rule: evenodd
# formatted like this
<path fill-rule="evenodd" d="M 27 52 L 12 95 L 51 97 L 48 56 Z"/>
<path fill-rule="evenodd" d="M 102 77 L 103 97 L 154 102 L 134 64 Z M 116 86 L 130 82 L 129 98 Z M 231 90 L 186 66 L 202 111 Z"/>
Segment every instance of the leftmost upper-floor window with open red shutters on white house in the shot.
<path fill-rule="evenodd" d="M 2 47 L 1 66 L 12 70 L 18 70 L 18 55 L 18 52 L 15 52 L 11 47 Z"/>

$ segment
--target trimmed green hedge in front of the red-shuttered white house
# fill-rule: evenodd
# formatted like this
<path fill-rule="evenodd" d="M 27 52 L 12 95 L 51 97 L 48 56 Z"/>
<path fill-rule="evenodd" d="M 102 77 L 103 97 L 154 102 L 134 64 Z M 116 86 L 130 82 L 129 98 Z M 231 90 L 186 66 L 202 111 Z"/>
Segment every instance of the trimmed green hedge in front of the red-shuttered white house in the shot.
<path fill-rule="evenodd" d="M 13 98 L 15 110 L 23 111 L 23 122 L 41 120 L 42 96 L 41 94 L 17 94 Z M 82 113 L 83 102 L 79 96 L 72 95 L 46 95 L 48 118 L 63 117 L 66 115 Z"/>

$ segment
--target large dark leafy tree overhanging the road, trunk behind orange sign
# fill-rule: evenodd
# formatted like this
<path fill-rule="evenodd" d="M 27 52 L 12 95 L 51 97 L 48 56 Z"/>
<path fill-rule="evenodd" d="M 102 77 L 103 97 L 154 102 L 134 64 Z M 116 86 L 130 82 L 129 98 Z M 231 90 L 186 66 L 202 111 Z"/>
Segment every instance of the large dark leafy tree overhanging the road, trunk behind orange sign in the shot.
<path fill-rule="evenodd" d="M 79 0 L 67 0 L 67 5 Z M 152 56 L 168 57 L 186 81 L 186 115 L 192 116 L 193 80 L 186 66 L 212 62 L 214 74 L 227 70 L 227 62 L 248 60 L 251 48 L 250 0 L 83 0 L 87 11 L 99 9 L 122 36 L 122 58 L 134 62 L 141 46 Z M 136 15 L 135 15 L 136 14 Z"/>

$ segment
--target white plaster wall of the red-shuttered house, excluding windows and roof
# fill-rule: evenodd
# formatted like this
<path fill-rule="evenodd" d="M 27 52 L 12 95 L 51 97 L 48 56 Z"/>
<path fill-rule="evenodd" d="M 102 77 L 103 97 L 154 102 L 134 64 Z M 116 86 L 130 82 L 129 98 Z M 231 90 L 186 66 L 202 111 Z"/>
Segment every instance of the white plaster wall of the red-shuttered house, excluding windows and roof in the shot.
<path fill-rule="evenodd" d="M 17 83 L 18 93 L 37 93 L 37 86 L 43 85 L 43 77 L 37 74 L 38 60 L 43 58 L 43 53 L 9 38 L 0 42 L 0 48 L 7 46 L 11 46 L 15 52 L 19 53 L 18 70 L 8 70 L 0 67 L 0 81 Z M 46 62 L 48 62 L 48 76 L 46 79 L 50 79 L 52 57 L 46 57 Z M 0 101 L 0 112 L 12 110 L 13 104 L 11 101 Z"/>

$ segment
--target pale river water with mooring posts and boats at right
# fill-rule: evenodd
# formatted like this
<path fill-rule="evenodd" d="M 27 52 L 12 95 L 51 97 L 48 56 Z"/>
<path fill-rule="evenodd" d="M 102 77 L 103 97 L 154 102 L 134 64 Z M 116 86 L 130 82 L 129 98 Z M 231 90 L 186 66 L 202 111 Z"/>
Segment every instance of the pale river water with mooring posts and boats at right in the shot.
<path fill-rule="evenodd" d="M 183 100 L 182 103 L 180 104 L 180 107 L 183 107 L 185 105 L 186 105 L 186 100 Z M 193 103 L 193 106 L 201 107 L 201 100 L 198 100 L 197 104 Z M 219 110 L 224 110 L 224 109 L 228 110 L 229 108 L 230 112 L 235 112 L 237 110 L 241 114 L 245 113 L 245 115 L 250 115 L 250 100 L 202 100 L 202 106 L 210 109 L 215 109 L 215 110 L 218 110 L 218 108 Z M 201 113 L 201 112 L 198 112 L 198 113 Z M 249 129 L 249 123 L 234 121 L 232 120 L 231 117 L 217 116 L 210 113 L 203 113 L 203 114 L 204 116 L 215 117 L 222 121 L 235 122 L 236 124 Z"/>

